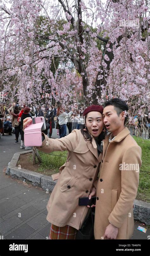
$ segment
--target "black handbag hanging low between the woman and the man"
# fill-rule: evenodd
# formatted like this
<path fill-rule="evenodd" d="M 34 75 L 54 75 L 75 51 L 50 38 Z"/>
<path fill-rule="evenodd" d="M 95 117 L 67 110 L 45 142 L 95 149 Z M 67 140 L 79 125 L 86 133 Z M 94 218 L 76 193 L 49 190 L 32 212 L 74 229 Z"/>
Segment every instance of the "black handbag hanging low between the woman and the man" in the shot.
<path fill-rule="evenodd" d="M 91 211 L 88 217 L 85 217 L 82 227 L 78 230 L 76 234 L 76 239 L 84 240 L 94 240 L 94 217 L 95 217 L 95 207 L 90 207 Z"/>

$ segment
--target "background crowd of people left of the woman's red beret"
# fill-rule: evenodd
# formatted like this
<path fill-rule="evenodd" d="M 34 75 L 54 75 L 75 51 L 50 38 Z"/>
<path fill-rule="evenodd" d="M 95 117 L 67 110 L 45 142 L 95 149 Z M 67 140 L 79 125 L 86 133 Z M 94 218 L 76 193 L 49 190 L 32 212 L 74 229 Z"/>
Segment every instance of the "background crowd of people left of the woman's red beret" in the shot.
<path fill-rule="evenodd" d="M 84 119 L 82 118 L 81 109 L 75 104 L 74 108 L 68 109 L 58 105 L 41 105 L 33 106 L 22 104 L 19 106 L 16 102 L 13 102 L 9 108 L 5 105 L 0 105 L 0 138 L 1 134 L 12 135 L 15 134 L 14 144 L 19 143 L 19 135 L 21 135 L 21 149 L 31 149 L 24 145 L 24 132 L 23 132 L 23 120 L 26 117 L 39 117 L 43 116 L 46 121 L 46 130 L 43 132 L 51 138 L 53 129 L 57 129 L 57 135 L 59 138 L 66 136 L 66 128 L 68 128 L 69 134 L 73 129 L 81 129 L 84 125 Z"/>

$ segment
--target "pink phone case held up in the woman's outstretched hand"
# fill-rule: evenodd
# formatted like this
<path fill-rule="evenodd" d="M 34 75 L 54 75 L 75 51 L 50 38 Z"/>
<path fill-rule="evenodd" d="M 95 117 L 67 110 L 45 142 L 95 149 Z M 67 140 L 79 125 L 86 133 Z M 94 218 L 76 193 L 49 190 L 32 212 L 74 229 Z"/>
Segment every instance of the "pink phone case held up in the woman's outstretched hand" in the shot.
<path fill-rule="evenodd" d="M 24 145 L 25 147 L 41 146 L 42 135 L 41 128 L 43 125 L 42 117 L 36 117 L 35 124 L 29 124 L 24 129 Z"/>

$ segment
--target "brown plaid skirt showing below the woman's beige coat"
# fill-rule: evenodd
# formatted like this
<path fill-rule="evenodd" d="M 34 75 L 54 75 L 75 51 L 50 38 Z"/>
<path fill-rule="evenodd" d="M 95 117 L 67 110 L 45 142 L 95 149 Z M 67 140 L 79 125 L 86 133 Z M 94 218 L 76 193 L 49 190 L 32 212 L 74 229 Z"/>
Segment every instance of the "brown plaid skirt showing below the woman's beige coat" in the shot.
<path fill-rule="evenodd" d="M 58 227 L 51 225 L 49 239 L 76 239 L 77 229 L 66 225 L 64 227 Z"/>

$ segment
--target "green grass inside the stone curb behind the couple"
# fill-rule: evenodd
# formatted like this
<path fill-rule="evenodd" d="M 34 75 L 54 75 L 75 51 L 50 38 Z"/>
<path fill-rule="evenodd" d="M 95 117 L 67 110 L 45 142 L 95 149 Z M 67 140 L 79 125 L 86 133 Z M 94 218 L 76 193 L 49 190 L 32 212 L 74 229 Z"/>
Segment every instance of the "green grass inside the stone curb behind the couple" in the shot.
<path fill-rule="evenodd" d="M 142 166 L 140 168 L 140 181 L 136 199 L 150 202 L 150 141 L 133 136 L 142 149 Z M 67 151 L 55 151 L 50 154 L 39 152 L 42 163 L 37 172 L 52 175 L 59 171 L 59 167 L 66 162 Z M 32 155 L 30 156 L 32 161 Z"/>

